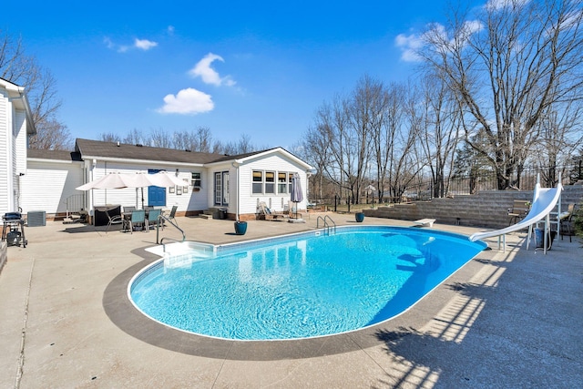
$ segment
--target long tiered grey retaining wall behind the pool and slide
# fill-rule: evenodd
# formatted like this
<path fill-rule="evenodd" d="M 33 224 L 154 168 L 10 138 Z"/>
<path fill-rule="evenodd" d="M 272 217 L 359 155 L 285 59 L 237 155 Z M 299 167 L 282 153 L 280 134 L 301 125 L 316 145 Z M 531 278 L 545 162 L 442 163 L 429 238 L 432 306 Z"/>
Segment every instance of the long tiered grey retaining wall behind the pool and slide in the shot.
<path fill-rule="evenodd" d="M 363 210 L 364 215 L 398 219 L 435 219 L 438 223 L 459 224 L 487 228 L 508 226 L 508 208 L 514 200 L 532 201 L 533 191 L 528 190 L 485 190 L 475 195 L 455 196 L 455 198 L 416 201 L 411 204 L 395 204 L 379 207 L 377 210 Z M 569 203 L 583 202 L 583 185 L 569 185 L 561 195 L 561 210 L 567 210 Z"/>

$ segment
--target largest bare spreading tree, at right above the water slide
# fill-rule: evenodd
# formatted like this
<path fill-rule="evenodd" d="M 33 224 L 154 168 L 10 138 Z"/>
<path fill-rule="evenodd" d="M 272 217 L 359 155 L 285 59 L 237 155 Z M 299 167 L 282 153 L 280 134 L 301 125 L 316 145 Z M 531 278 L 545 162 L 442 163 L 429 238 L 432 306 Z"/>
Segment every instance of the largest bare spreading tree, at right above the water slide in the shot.
<path fill-rule="evenodd" d="M 583 12 L 578 0 L 489 1 L 476 20 L 453 12 L 424 34 L 420 53 L 463 109 L 465 140 L 488 156 L 497 186 L 519 185 L 539 123 L 581 98 Z M 484 130 L 488 146 L 472 143 Z"/>

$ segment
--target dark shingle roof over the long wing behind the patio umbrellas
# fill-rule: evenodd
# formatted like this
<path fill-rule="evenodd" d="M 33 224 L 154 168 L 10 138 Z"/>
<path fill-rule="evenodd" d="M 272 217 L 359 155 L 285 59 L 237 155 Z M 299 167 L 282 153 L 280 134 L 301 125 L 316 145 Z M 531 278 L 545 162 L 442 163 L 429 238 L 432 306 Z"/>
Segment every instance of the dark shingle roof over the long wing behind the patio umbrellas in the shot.
<path fill-rule="evenodd" d="M 77 139 L 75 148 L 84 157 L 146 159 L 194 164 L 204 164 L 225 158 L 222 154 L 201 153 L 174 148 L 151 148 L 127 143 L 120 143 L 118 146 L 114 142 L 89 139 Z M 229 159 L 232 159 L 232 157 L 229 157 Z"/>

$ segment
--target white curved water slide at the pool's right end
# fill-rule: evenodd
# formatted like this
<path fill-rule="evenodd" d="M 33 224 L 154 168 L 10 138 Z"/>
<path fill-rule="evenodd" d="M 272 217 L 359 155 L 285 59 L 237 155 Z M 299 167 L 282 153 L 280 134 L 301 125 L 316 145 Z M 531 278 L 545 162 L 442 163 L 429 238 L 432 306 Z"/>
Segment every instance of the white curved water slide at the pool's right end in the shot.
<path fill-rule="evenodd" d="M 478 241 L 480 239 L 491 238 L 491 237 L 498 237 L 498 247 L 500 245 L 500 236 L 504 238 L 504 246 L 506 250 L 506 234 L 509 232 L 514 232 L 517 230 L 522 230 L 527 227 L 531 227 L 533 224 L 537 223 L 537 221 L 545 219 L 545 242 L 544 242 L 544 249 L 545 252 L 547 251 L 547 235 L 548 235 L 548 228 L 549 228 L 549 215 L 550 212 L 557 206 L 561 198 L 561 191 L 563 190 L 563 185 L 561 184 L 560 175 L 558 177 L 557 188 L 540 188 L 540 179 L 537 178 L 537 185 L 535 186 L 535 193 L 533 195 L 532 206 L 528 211 L 527 216 L 517 222 L 517 224 L 513 224 L 511 226 L 506 227 L 502 230 L 493 230 L 493 231 L 486 231 L 486 232 L 477 232 L 469 237 L 470 241 Z M 560 213 L 560 209 L 559 209 Z M 531 230 L 528 230 L 528 239 L 530 239 Z M 528 248 L 528 247 L 527 247 Z"/>

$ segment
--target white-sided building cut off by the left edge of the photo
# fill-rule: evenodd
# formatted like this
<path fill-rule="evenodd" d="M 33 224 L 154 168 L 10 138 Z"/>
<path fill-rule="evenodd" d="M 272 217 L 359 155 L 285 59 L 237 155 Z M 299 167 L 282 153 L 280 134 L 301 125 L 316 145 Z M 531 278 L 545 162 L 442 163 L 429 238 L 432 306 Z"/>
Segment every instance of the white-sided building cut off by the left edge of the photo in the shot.
<path fill-rule="evenodd" d="M 0 78 L 0 214 L 19 210 L 28 136 L 36 134 L 24 87 Z"/>

